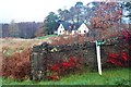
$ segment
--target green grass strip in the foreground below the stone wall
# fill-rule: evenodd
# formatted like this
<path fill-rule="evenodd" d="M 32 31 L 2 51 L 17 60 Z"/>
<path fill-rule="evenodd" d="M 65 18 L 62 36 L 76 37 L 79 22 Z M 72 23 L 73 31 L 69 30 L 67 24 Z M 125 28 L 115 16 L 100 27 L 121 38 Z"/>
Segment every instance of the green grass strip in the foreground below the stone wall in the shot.
<path fill-rule="evenodd" d="M 102 76 L 97 72 L 86 72 L 62 77 L 56 82 L 41 80 L 36 83 L 32 80 L 1 79 L 3 85 L 129 85 L 129 69 L 104 70 Z"/>

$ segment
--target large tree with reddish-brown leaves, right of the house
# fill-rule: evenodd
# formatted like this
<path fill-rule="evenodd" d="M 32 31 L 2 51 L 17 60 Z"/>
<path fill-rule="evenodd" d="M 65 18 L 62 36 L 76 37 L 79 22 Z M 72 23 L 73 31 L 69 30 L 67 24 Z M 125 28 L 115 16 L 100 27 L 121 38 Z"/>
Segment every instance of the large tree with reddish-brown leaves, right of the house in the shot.
<path fill-rule="evenodd" d="M 103 33 L 121 23 L 122 9 L 119 2 L 95 2 L 93 4 L 91 13 L 87 14 L 92 29 Z"/>

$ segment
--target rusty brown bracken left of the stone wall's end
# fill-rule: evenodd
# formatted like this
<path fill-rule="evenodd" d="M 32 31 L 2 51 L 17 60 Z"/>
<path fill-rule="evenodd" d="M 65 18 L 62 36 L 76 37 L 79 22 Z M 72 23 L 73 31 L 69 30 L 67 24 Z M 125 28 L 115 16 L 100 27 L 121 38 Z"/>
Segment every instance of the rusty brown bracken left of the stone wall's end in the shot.
<path fill-rule="evenodd" d="M 2 57 L 2 76 L 15 79 L 25 79 L 29 76 L 29 53 L 26 49 L 21 53 L 14 53 L 11 57 Z"/>

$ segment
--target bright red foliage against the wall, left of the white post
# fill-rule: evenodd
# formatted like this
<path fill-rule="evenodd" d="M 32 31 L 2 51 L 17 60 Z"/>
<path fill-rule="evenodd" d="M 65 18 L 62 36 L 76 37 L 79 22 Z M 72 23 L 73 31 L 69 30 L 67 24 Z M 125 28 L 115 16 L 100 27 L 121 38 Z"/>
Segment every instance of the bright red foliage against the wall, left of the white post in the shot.
<path fill-rule="evenodd" d="M 76 70 L 82 69 L 81 59 L 70 57 L 69 60 L 62 60 L 57 64 L 48 66 L 48 71 L 51 72 L 51 75 L 47 76 L 49 79 L 58 80 L 60 76 L 75 72 Z"/>

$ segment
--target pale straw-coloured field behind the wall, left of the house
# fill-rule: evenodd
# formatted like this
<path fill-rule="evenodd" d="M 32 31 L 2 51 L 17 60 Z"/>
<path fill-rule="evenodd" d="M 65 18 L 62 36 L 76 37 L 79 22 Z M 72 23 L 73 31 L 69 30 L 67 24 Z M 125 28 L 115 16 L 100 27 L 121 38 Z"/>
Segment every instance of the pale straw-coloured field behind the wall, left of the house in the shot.
<path fill-rule="evenodd" d="M 21 38 L 10 38 L 10 39 L 1 39 L 2 53 L 5 57 L 10 57 L 15 52 L 22 52 L 26 48 L 31 48 L 34 45 L 38 45 L 40 42 L 47 41 L 50 42 L 49 37 L 53 37 L 55 35 L 39 37 L 35 39 L 21 39 Z M 43 38 L 43 39 L 41 39 Z"/>

